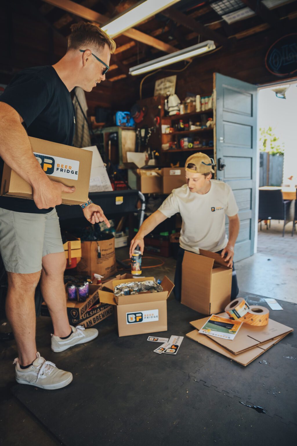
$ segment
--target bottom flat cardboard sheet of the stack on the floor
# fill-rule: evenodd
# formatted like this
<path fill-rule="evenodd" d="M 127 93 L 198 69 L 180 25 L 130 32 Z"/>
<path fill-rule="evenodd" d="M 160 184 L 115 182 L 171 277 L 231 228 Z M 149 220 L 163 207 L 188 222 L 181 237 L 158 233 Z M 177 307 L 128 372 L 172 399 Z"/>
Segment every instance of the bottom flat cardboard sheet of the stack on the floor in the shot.
<path fill-rule="evenodd" d="M 252 347 L 247 351 L 239 353 L 238 355 L 234 355 L 224 347 L 220 346 L 214 340 L 210 339 L 209 336 L 201 335 L 198 330 L 190 331 L 187 333 L 187 338 L 192 339 L 193 341 L 198 342 L 199 344 L 204 345 L 205 347 L 211 348 L 214 351 L 217 351 L 221 355 L 227 356 L 227 358 L 236 361 L 237 363 L 243 365 L 244 367 L 250 364 L 254 359 L 258 358 L 264 351 L 268 350 L 273 345 L 277 344 L 281 339 L 283 339 L 288 333 L 285 335 L 277 336 L 270 341 L 260 344 L 258 347 Z M 232 341 L 230 341 L 232 342 Z"/>

